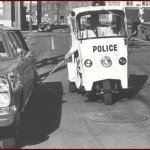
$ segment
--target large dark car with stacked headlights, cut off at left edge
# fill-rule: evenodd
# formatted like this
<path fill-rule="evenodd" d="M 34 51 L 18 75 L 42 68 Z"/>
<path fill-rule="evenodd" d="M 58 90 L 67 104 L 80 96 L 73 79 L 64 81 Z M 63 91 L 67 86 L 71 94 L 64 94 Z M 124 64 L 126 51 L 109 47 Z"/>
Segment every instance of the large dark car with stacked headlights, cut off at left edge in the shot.
<path fill-rule="evenodd" d="M 16 148 L 21 114 L 36 79 L 35 54 L 20 30 L 0 27 L 0 148 Z"/>

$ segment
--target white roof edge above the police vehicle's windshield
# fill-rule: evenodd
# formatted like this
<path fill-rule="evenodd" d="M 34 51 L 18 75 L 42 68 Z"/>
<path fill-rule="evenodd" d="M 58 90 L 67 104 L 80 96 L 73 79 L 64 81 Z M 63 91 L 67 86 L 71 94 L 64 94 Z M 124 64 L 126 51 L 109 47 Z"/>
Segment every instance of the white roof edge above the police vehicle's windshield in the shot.
<path fill-rule="evenodd" d="M 79 13 L 82 12 L 88 12 L 88 11 L 98 11 L 98 10 L 122 10 L 124 11 L 124 7 L 121 6 L 88 6 L 88 7 L 79 7 L 74 8 L 71 11 L 75 12 L 75 16 L 77 16 Z"/>

